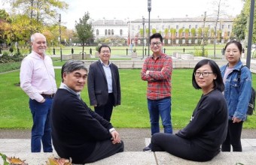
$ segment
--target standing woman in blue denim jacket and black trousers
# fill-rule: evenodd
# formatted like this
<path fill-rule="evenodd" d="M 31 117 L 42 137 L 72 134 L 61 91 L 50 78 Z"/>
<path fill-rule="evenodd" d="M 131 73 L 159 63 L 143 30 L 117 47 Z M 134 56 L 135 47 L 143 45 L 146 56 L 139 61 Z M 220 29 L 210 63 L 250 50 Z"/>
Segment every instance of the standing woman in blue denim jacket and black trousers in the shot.
<path fill-rule="evenodd" d="M 224 48 L 227 65 L 221 67 L 225 85 L 224 98 L 228 107 L 227 137 L 221 151 L 242 151 L 242 124 L 246 119 L 248 103 L 251 98 L 251 71 L 241 62 L 242 44 L 236 40 L 228 42 Z"/>

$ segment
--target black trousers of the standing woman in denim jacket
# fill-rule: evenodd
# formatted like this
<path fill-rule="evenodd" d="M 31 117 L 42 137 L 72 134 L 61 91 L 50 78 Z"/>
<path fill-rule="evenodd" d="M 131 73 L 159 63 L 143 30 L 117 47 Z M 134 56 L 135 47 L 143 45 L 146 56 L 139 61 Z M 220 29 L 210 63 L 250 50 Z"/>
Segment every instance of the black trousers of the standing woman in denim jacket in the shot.
<path fill-rule="evenodd" d="M 230 151 L 231 145 L 233 151 L 242 151 L 241 133 L 243 121 L 233 123 L 233 120 L 228 121 L 227 137 L 221 145 L 221 151 Z"/>

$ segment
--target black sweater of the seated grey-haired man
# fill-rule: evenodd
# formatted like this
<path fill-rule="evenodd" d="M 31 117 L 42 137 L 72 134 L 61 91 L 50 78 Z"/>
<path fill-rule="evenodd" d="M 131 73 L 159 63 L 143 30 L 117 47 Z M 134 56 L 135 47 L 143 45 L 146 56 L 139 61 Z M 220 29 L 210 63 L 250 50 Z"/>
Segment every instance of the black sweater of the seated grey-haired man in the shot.
<path fill-rule="evenodd" d="M 84 163 L 97 141 L 111 139 L 111 123 L 66 89 L 57 90 L 50 120 L 57 154 L 62 158 L 72 157 L 72 163 Z"/>

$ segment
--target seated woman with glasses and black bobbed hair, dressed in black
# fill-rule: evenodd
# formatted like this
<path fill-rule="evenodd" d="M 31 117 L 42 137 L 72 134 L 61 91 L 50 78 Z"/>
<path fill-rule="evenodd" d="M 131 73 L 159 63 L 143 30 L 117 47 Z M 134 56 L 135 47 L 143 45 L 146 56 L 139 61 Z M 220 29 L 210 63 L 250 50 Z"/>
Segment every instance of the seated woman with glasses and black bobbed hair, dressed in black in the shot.
<path fill-rule="evenodd" d="M 227 104 L 218 65 L 209 59 L 198 62 L 192 84 L 195 89 L 202 89 L 203 95 L 190 122 L 176 134 L 155 133 L 151 138 L 152 151 L 167 151 L 187 160 L 208 161 L 220 152 L 227 135 Z"/>

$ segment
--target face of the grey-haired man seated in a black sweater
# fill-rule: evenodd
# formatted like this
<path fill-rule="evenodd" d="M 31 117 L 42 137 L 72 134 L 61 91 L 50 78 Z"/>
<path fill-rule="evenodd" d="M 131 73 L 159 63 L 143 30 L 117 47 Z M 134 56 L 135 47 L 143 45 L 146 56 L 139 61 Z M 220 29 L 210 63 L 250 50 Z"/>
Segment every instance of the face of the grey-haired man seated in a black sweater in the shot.
<path fill-rule="evenodd" d="M 63 74 L 63 83 L 75 92 L 81 92 L 87 80 L 87 71 L 84 69 L 73 71 L 72 73 Z"/>

